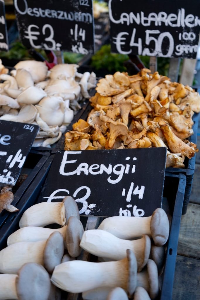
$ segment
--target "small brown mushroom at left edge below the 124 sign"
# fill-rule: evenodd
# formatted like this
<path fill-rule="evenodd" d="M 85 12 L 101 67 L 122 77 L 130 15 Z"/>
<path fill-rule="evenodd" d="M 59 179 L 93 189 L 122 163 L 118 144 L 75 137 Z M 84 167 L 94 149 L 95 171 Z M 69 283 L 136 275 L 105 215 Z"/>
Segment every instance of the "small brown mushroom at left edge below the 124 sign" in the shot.
<path fill-rule="evenodd" d="M 19 211 L 18 208 L 10 204 L 13 202 L 13 199 L 14 199 L 14 195 L 12 192 L 12 187 L 9 186 L 3 187 L 0 193 L 0 213 L 1 211 L 3 211 L 3 209 L 10 212 Z"/>

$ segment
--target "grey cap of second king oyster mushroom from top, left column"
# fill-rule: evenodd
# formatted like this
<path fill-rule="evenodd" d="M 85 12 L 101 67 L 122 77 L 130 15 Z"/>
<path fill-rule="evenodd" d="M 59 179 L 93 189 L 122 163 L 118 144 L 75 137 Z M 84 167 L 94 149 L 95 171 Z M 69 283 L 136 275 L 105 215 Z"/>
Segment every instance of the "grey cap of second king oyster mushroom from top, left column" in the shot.
<path fill-rule="evenodd" d="M 84 229 L 83 225 L 77 217 L 70 217 L 67 224 L 65 243 L 67 251 L 71 257 L 80 255 L 82 248 L 79 246 Z"/>

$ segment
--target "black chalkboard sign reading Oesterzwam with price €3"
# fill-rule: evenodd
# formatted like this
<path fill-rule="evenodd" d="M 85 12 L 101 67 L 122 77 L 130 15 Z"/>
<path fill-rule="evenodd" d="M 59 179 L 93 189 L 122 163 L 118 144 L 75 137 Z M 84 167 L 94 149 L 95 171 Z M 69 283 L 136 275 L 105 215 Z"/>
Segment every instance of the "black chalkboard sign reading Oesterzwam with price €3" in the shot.
<path fill-rule="evenodd" d="M 27 48 L 94 52 L 92 0 L 14 0 L 14 5 Z"/>

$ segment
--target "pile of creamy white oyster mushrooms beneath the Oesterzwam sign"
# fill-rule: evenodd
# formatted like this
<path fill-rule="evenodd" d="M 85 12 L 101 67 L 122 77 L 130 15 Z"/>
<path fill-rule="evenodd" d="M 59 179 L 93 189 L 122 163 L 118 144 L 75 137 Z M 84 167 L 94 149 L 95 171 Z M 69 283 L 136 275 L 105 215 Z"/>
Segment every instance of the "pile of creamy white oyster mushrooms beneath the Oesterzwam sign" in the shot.
<path fill-rule="evenodd" d="M 20 61 L 8 75 L 0 65 L 0 120 L 39 125 L 33 146 L 57 142 L 96 86 L 96 75 L 78 73 L 76 64 L 58 64 L 50 71 L 41 61 Z"/>

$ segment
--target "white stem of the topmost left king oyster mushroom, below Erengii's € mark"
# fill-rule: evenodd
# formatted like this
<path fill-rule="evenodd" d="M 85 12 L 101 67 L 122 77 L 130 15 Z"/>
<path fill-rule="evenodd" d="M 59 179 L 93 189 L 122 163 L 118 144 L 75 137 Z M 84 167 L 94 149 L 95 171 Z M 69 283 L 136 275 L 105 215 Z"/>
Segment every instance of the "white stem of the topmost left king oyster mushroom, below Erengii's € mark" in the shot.
<path fill-rule="evenodd" d="M 44 227 L 49 224 L 64 226 L 66 222 L 63 202 L 41 202 L 29 207 L 19 221 L 19 228 Z"/>

